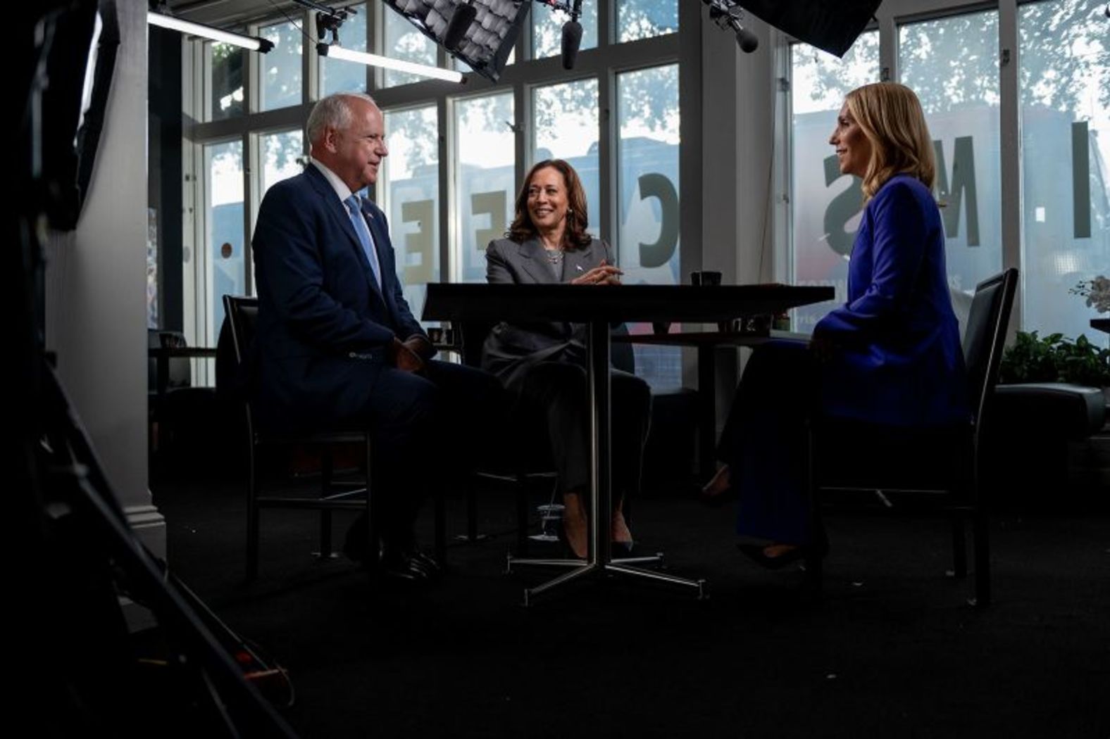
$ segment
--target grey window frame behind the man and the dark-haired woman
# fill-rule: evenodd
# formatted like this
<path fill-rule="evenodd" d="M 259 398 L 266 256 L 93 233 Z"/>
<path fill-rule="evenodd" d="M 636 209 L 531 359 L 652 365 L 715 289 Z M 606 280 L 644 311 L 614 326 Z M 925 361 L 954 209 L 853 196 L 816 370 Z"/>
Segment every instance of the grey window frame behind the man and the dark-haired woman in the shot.
<path fill-rule="evenodd" d="M 488 94 L 511 92 L 514 104 L 514 124 L 516 126 L 515 152 L 514 152 L 514 182 L 519 182 L 527 168 L 532 164 L 532 91 L 538 87 L 558 84 L 583 79 L 597 79 L 598 93 L 598 165 L 599 165 L 599 212 L 596 214 L 596 223 L 603 239 L 616 244 L 616 216 L 617 203 L 616 193 L 616 136 L 615 117 L 610 112 L 615 111 L 615 80 L 616 74 L 646 69 L 657 65 L 679 64 L 682 69 L 683 59 L 690 59 L 698 49 L 698 38 L 702 32 L 699 24 L 693 24 L 689 19 L 694 16 L 689 10 L 684 10 L 684 3 L 677 0 L 679 29 L 676 33 L 668 33 L 659 37 L 639 39 L 636 41 L 617 43 L 615 41 L 617 29 L 615 28 L 615 0 L 599 0 L 597 3 L 598 43 L 596 48 L 582 50 L 577 58 L 575 69 L 568 72 L 563 69 L 558 55 L 541 59 L 532 59 L 532 22 L 531 19 L 522 24 L 522 32 L 515 44 L 515 62 L 505 67 L 501 78 L 496 83 L 481 78 L 476 74 L 468 75 L 465 87 L 438 81 L 423 80 L 396 87 L 383 87 L 384 70 L 367 68 L 366 82 L 367 92 L 374 97 L 383 112 L 403 111 L 413 108 L 434 104 L 436 107 L 436 122 L 440 134 L 440 205 L 438 205 L 438 257 L 441 276 L 443 279 L 456 279 L 461 265 L 452 255 L 452 244 L 457 243 L 457 219 L 452 212 L 454 202 L 454 189 L 456 182 L 455 172 L 455 126 L 454 105 L 460 100 Z M 381 52 L 384 45 L 383 14 L 393 12 L 384 3 L 349 3 L 363 4 L 367 8 L 366 36 L 367 48 Z M 529 12 L 549 12 L 545 7 L 535 7 Z M 297 13 L 269 14 L 264 18 L 255 19 L 245 24 L 245 30 L 256 33 L 258 29 L 273 23 L 294 21 L 306 31 L 313 28 L 312 13 L 301 11 Z M 303 130 L 309 112 L 315 100 L 319 99 L 321 89 L 320 61 L 309 40 L 302 37 L 302 101 L 297 105 L 273 109 L 268 111 L 259 110 L 259 90 L 261 88 L 260 60 L 256 54 L 249 53 L 244 69 L 244 113 L 242 115 L 219 121 L 206 121 L 200 117 L 188 121 L 185 125 L 184 160 L 192 162 L 192 198 L 194 202 L 203 204 L 205 202 L 203 182 L 203 148 L 216 142 L 224 142 L 239 139 L 243 144 L 243 170 L 244 170 L 244 249 L 246 288 L 253 293 L 253 260 L 251 254 L 250 236 L 253 224 L 258 217 L 258 209 L 261 202 L 261 156 L 259 142 L 262 135 L 271 132 L 287 131 L 295 128 Z M 685 51 L 684 51 L 685 47 Z M 201 41 L 191 41 L 183 44 L 185 54 L 185 68 L 192 69 L 192 74 L 203 87 L 205 78 L 204 47 Z M 440 65 L 446 65 L 448 54 L 437 47 L 437 60 Z M 687 62 L 688 63 L 688 62 Z M 682 75 L 680 75 L 682 77 Z M 204 104 L 205 98 L 195 85 L 185 85 L 183 107 L 186 111 L 195 109 L 196 103 Z M 198 97 L 198 95 L 201 97 Z M 690 117 L 699 121 L 699 111 L 687 111 L 680 108 L 683 119 Z M 186 113 L 188 117 L 188 113 Z M 684 123 L 684 130 L 688 125 Z M 679 161 L 687 158 L 685 136 L 679 150 Z M 304 154 L 307 154 L 309 143 L 304 142 Z M 679 170 L 679 179 L 687 168 Z M 697 196 L 699 193 L 699 182 L 679 183 L 679 192 L 689 193 L 689 196 Z M 515 196 L 515 192 L 511 193 Z M 371 198 L 377 199 L 377 188 L 371 189 Z M 203 205 L 193 209 L 192 215 L 186 214 L 186 234 L 191 232 L 194 247 L 192 254 L 200 255 L 205 247 L 204 239 L 206 227 L 206 213 L 203 213 Z M 684 229 L 687 219 L 680 219 L 680 243 L 684 239 Z M 191 227 L 190 227 L 191 226 Z M 186 235 L 186 242 L 189 235 Z M 200 249 L 195 247 L 200 244 Z M 682 259 L 683 255 L 679 255 Z M 206 275 L 204 270 L 206 264 L 202 259 L 194 256 L 194 265 L 184 270 L 185 290 L 185 321 L 193 326 L 191 341 L 195 342 L 196 336 L 205 335 L 205 326 L 209 322 L 206 316 Z"/>

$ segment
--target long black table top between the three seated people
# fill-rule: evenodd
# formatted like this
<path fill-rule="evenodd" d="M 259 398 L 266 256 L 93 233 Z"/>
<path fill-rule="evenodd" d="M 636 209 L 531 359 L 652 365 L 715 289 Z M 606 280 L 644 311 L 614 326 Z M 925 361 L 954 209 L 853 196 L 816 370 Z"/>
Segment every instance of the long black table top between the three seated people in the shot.
<path fill-rule="evenodd" d="M 795 285 L 486 285 L 431 283 L 425 321 L 718 322 L 833 300 Z"/>

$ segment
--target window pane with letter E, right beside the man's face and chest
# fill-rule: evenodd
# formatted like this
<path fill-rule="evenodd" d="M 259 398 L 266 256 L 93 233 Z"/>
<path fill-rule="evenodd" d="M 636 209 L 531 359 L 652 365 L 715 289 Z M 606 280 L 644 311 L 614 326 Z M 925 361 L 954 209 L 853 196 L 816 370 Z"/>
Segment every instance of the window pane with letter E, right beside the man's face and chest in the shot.
<path fill-rule="evenodd" d="M 405 300 L 418 316 L 427 283 L 440 281 L 440 129 L 435 105 L 387 111 L 390 155 L 382 171 L 383 205 Z"/>

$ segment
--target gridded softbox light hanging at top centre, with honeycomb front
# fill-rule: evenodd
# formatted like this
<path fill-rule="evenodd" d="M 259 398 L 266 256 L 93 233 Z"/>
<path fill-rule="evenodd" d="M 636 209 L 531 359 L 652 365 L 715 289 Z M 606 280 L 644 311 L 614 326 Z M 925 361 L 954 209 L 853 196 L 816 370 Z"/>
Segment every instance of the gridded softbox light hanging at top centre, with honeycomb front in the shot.
<path fill-rule="evenodd" d="M 393 10 L 404 16 L 420 31 L 447 49 L 471 69 L 496 82 L 505 61 L 513 51 L 521 24 L 528 14 L 528 0 L 385 0 Z M 463 8 L 458 18 L 456 9 Z M 470 22 L 460 22 L 468 20 Z M 465 26 L 465 29 L 463 29 Z M 453 48 L 445 42 L 448 29 Z"/>

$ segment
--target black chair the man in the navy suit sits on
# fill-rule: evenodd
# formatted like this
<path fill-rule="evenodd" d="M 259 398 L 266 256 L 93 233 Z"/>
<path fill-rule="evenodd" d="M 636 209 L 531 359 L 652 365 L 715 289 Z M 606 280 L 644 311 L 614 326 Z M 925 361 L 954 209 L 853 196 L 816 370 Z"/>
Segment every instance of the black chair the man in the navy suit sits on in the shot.
<path fill-rule="evenodd" d="M 258 323 L 259 301 L 254 297 L 223 296 L 224 312 L 228 315 L 231 335 L 234 344 L 235 376 L 249 382 L 249 362 L 251 346 L 254 342 L 254 331 Z M 251 408 L 249 394 L 241 392 L 243 408 L 246 414 L 246 448 L 248 448 L 248 482 L 246 482 L 246 579 L 253 579 L 259 571 L 259 525 L 262 508 L 301 508 L 320 510 L 320 556 L 332 556 L 332 510 L 365 510 L 369 530 L 369 541 L 379 540 L 377 515 L 374 510 L 374 496 L 370 494 L 371 469 L 373 469 L 373 445 L 369 429 L 337 429 L 310 434 L 282 435 L 270 434 L 259 428 L 258 421 Z M 365 475 L 356 484 L 335 480 L 335 449 L 341 445 L 357 445 L 364 453 Z M 315 497 L 271 495 L 262 490 L 261 459 L 266 448 L 284 448 L 291 451 L 301 447 L 316 451 L 320 455 L 320 493 Z M 373 544 L 371 545 L 374 546 Z"/>

